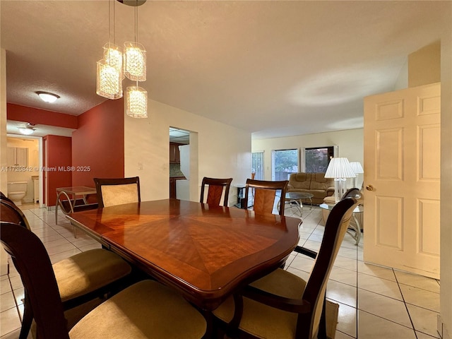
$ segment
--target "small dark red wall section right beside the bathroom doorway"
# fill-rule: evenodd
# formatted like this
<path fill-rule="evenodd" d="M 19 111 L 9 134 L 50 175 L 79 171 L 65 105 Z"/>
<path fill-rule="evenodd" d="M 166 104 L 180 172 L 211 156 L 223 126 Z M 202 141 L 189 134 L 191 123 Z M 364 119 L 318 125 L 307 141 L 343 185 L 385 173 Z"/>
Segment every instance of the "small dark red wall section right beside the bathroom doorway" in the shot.
<path fill-rule="evenodd" d="M 72 186 L 72 142 L 71 138 L 67 136 L 49 135 L 44 136 L 42 139 L 44 145 L 47 141 L 47 148 L 44 148 L 44 157 L 47 153 L 47 163 L 45 162 L 45 158 L 43 163 L 49 182 L 49 201 L 45 201 L 45 203 L 46 206 L 55 206 L 57 201 L 57 188 Z"/>

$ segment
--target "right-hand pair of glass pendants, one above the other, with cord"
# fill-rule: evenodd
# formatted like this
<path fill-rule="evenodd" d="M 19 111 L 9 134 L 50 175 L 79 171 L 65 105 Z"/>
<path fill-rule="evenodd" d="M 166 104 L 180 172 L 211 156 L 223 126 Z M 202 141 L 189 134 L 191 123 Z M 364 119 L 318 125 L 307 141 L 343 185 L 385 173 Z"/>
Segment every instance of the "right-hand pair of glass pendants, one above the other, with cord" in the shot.
<path fill-rule="evenodd" d="M 126 89 L 126 114 L 133 118 L 147 118 L 148 91 L 138 87 L 138 81 L 146 80 L 146 50 L 138 43 L 138 6 L 136 0 L 135 41 L 124 42 L 124 75 L 136 81 L 135 86 Z"/>

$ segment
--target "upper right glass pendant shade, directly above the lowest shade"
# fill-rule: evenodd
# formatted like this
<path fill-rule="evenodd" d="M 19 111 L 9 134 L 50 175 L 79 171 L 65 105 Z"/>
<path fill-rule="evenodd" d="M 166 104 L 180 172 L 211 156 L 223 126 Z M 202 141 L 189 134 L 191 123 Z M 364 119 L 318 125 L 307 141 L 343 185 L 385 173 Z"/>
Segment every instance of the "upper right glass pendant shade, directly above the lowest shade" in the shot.
<path fill-rule="evenodd" d="M 124 42 L 124 75 L 132 81 L 146 80 L 146 50 L 138 42 Z"/>

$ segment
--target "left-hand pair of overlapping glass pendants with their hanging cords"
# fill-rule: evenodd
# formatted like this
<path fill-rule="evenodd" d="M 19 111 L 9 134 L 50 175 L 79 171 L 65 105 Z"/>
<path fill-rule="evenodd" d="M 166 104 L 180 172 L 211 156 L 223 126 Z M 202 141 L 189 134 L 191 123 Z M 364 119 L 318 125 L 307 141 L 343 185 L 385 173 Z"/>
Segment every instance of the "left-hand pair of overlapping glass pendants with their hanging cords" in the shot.
<path fill-rule="evenodd" d="M 104 45 L 104 59 L 97 61 L 97 82 L 96 93 L 107 99 L 119 99 L 122 97 L 122 52 L 114 44 L 114 1 L 113 1 L 113 43 L 111 39 L 111 13 L 110 2 L 108 1 L 108 40 Z"/>

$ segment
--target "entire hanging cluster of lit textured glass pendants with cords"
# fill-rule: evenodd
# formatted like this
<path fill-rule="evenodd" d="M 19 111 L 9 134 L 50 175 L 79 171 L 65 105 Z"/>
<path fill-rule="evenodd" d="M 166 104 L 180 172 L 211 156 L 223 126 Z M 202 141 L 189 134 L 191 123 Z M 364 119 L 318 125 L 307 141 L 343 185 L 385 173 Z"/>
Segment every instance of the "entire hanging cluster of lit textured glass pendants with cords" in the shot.
<path fill-rule="evenodd" d="M 97 61 L 96 93 L 107 99 L 123 96 L 122 80 L 127 77 L 136 81 L 135 86 L 126 89 L 126 114 L 134 118 L 148 117 L 148 92 L 138 87 L 138 81 L 146 80 L 146 50 L 138 43 L 138 6 L 145 0 L 117 0 L 121 4 L 135 7 L 135 41 L 124 42 L 124 54 L 114 44 L 114 1 L 113 1 L 113 43 L 110 42 L 110 4 L 108 7 L 109 42 L 104 45 L 104 58 Z"/>

